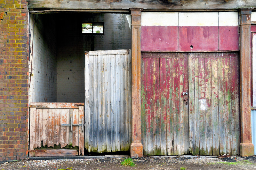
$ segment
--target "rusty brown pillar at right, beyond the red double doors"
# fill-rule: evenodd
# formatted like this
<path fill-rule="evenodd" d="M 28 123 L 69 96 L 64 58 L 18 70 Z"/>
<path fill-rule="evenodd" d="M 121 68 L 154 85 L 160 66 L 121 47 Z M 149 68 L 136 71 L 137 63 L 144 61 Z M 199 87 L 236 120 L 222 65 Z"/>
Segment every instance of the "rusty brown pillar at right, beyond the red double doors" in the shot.
<path fill-rule="evenodd" d="M 254 155 L 251 128 L 251 14 L 252 8 L 240 9 L 240 155 Z"/>

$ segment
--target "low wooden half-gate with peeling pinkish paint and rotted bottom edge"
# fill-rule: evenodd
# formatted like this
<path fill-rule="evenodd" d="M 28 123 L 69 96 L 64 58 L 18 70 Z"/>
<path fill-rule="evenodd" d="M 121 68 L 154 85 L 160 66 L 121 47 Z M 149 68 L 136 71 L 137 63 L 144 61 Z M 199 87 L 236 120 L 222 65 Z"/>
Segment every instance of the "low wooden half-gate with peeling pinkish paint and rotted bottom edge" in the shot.
<path fill-rule="evenodd" d="M 31 103 L 29 133 L 30 156 L 84 155 L 84 103 Z M 79 150 L 35 151 L 59 144 L 60 148 L 69 145 Z"/>

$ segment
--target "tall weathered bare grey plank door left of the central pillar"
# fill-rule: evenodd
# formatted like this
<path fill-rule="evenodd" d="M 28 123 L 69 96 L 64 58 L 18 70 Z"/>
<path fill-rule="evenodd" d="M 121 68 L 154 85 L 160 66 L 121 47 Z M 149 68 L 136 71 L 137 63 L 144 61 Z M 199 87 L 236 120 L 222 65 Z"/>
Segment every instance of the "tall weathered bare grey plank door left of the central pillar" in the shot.
<path fill-rule="evenodd" d="M 85 148 L 128 151 L 132 140 L 130 50 L 85 52 Z"/>

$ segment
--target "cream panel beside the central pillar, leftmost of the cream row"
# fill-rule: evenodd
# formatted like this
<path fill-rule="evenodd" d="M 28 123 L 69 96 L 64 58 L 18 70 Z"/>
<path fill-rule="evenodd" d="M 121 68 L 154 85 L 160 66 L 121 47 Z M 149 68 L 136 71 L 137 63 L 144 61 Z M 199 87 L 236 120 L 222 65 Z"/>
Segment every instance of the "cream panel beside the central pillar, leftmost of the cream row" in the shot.
<path fill-rule="evenodd" d="M 142 26 L 178 26 L 178 12 L 141 12 Z"/>

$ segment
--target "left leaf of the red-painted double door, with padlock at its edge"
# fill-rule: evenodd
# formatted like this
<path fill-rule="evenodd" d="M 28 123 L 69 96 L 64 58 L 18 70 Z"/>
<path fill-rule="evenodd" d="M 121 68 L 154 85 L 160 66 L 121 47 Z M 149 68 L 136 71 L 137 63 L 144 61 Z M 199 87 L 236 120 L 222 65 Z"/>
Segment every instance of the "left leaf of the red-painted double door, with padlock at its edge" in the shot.
<path fill-rule="evenodd" d="M 142 53 L 141 129 L 144 155 L 189 153 L 186 92 L 187 53 Z"/>

